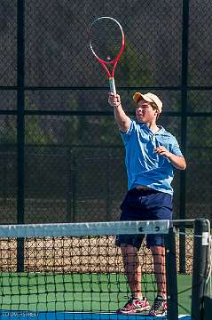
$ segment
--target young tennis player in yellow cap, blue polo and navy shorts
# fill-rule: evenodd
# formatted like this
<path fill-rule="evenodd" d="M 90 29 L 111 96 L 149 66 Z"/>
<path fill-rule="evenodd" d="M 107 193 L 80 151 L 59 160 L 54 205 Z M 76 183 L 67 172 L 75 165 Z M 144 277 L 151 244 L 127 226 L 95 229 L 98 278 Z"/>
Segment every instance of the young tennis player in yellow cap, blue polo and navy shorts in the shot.
<path fill-rule="evenodd" d="M 109 93 L 109 104 L 114 107 L 114 119 L 119 126 L 126 150 L 128 193 L 121 205 L 121 220 L 172 220 L 171 181 L 175 169 L 185 170 L 185 158 L 176 138 L 156 124 L 162 102 L 153 93 L 136 92 L 137 121 L 131 120 L 122 109 L 118 94 Z M 118 313 L 130 314 L 149 311 L 161 316 L 167 310 L 165 277 L 165 249 L 162 235 L 147 235 L 146 245 L 153 253 L 157 297 L 151 308 L 142 295 L 142 269 L 137 252 L 144 236 L 118 236 L 123 264 L 130 286 L 131 298 Z"/>

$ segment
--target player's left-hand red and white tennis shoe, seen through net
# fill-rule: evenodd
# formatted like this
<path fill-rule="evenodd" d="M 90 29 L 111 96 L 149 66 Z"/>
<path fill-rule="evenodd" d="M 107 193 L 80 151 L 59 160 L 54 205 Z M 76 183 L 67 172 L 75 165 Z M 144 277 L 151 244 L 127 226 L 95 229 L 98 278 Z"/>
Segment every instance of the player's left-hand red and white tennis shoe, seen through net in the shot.
<path fill-rule="evenodd" d="M 116 312 L 118 314 L 127 315 L 149 311 L 150 308 L 151 307 L 149 301 L 146 298 L 138 299 L 131 297 L 128 302 L 122 308 L 119 308 Z"/>

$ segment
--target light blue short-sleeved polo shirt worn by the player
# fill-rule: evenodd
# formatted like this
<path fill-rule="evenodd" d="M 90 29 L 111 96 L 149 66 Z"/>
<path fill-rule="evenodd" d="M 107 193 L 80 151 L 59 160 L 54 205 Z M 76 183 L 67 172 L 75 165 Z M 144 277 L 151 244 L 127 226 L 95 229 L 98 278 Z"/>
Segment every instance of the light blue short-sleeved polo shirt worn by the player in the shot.
<path fill-rule="evenodd" d="M 126 150 L 128 188 L 145 185 L 173 195 L 171 182 L 175 168 L 168 158 L 156 154 L 154 149 L 164 146 L 176 156 L 183 155 L 177 139 L 163 127 L 158 127 L 158 132 L 152 132 L 145 124 L 131 121 L 128 131 L 121 132 Z"/>

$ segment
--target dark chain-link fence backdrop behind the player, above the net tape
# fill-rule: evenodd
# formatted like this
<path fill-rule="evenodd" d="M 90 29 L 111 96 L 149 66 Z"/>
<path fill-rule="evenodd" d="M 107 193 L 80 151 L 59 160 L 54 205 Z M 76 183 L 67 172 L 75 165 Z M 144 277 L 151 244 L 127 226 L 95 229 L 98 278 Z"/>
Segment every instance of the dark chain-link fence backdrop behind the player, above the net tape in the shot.
<path fill-rule="evenodd" d="M 212 6 L 206 0 L 2 0 L 0 223 L 118 220 L 127 189 L 122 140 L 88 27 L 119 20 L 126 49 L 115 71 L 132 94 L 164 102 L 159 123 L 187 159 L 175 219 L 212 216 Z"/>

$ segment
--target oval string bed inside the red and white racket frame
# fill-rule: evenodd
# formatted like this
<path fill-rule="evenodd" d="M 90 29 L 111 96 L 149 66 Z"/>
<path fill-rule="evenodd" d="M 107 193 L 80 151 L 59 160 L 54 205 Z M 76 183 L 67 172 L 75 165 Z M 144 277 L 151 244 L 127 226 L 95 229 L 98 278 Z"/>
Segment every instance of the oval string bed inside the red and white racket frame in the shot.
<path fill-rule="evenodd" d="M 114 20 L 97 20 L 90 28 L 90 45 L 101 60 L 115 60 L 122 49 L 122 29 Z"/>

